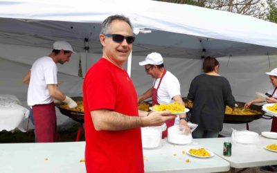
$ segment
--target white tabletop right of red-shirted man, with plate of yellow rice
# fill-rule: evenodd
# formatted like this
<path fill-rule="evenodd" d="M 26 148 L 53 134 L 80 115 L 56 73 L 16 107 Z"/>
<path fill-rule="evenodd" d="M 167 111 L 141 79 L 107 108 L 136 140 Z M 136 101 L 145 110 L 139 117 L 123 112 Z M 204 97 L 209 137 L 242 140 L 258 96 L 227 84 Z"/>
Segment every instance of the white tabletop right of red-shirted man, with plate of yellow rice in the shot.
<path fill-rule="evenodd" d="M 195 158 L 182 152 L 188 152 L 199 145 L 172 145 L 162 140 L 158 149 L 143 149 L 145 172 L 225 172 L 230 169 L 227 161 L 220 156 Z M 186 163 L 186 159 L 190 162 Z"/>

